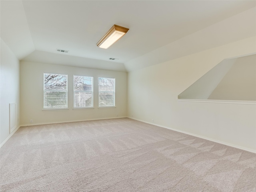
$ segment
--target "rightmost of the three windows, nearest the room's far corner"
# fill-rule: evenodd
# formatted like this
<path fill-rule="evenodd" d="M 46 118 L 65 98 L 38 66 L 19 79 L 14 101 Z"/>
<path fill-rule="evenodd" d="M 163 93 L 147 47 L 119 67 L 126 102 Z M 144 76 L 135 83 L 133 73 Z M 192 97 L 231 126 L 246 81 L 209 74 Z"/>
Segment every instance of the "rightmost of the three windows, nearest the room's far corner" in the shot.
<path fill-rule="evenodd" d="M 115 106 L 115 78 L 99 77 L 99 106 Z"/>

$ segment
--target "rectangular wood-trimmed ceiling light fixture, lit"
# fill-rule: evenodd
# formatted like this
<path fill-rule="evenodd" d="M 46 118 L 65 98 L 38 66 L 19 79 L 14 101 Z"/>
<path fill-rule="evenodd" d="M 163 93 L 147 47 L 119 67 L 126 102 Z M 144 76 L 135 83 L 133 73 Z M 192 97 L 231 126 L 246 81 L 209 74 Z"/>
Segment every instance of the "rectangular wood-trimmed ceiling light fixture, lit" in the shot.
<path fill-rule="evenodd" d="M 110 30 L 104 35 L 104 37 L 102 37 L 102 39 L 97 43 L 97 46 L 103 49 L 109 48 L 112 44 L 114 44 L 114 42 L 124 36 L 128 30 L 128 28 L 113 25 L 112 28 L 110 28 Z"/>

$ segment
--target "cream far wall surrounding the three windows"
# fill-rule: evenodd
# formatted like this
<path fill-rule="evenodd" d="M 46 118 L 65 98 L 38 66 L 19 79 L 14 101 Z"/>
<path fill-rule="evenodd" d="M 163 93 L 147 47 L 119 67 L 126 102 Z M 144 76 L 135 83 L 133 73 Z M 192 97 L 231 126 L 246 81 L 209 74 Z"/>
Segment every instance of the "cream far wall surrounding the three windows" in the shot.
<path fill-rule="evenodd" d="M 68 110 L 43 111 L 43 74 L 68 74 Z M 94 77 L 94 109 L 73 110 L 73 75 Z M 98 108 L 98 77 L 116 78 L 116 108 Z M 35 62 L 20 62 L 21 125 L 126 116 L 127 73 Z M 30 123 L 30 120 L 33 120 Z"/>

